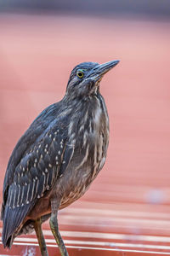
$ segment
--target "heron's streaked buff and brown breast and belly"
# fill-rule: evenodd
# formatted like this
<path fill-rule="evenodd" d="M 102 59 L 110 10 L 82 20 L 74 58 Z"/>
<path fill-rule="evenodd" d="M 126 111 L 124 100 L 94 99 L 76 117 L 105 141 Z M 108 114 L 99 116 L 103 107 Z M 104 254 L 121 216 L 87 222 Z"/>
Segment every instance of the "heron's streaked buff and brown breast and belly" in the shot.
<path fill-rule="evenodd" d="M 78 121 L 71 120 L 68 131 L 74 154 L 60 180 L 61 207 L 76 201 L 88 189 L 105 164 L 109 142 L 109 119 L 103 106 L 87 109 Z"/>

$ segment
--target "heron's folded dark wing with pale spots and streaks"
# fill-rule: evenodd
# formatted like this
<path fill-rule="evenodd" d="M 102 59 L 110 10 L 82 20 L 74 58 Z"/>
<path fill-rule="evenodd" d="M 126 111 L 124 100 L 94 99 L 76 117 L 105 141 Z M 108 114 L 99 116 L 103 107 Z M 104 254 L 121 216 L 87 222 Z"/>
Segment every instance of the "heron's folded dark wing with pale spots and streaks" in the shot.
<path fill-rule="evenodd" d="M 20 157 L 15 160 L 15 166 L 14 160 L 10 160 L 8 168 L 12 168 L 12 171 L 8 171 L 7 177 L 10 180 L 6 181 L 3 197 L 4 246 L 11 246 L 13 235 L 23 219 L 37 199 L 53 187 L 54 181 L 65 171 L 71 160 L 74 148 L 66 143 L 62 122 L 55 123 L 45 130 L 46 133 L 40 133 L 39 137 L 34 138 L 34 143 L 31 141 L 29 147 L 28 143 L 26 147 L 25 141 L 24 145 L 20 141 L 19 148 L 24 148 L 24 153 L 19 152 Z M 16 152 L 13 154 L 17 155 Z"/>

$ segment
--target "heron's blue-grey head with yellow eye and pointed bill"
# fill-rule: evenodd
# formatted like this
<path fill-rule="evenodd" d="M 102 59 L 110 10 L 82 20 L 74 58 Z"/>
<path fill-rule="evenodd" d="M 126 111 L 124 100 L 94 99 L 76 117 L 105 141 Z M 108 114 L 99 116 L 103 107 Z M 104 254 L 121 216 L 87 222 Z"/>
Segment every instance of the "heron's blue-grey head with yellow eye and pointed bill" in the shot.
<path fill-rule="evenodd" d="M 65 96 L 86 97 L 96 94 L 99 82 L 119 61 L 109 61 L 104 64 L 82 62 L 71 71 Z"/>

